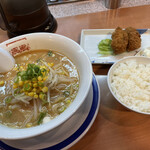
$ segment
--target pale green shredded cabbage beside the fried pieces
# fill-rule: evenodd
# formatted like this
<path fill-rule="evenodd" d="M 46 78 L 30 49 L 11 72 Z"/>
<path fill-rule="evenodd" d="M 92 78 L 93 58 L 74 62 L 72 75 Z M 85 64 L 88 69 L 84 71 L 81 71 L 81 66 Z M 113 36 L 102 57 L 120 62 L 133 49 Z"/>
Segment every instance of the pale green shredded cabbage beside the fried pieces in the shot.
<path fill-rule="evenodd" d="M 111 39 L 104 39 L 98 44 L 99 52 L 101 55 L 113 55 L 113 49 L 111 48 Z"/>

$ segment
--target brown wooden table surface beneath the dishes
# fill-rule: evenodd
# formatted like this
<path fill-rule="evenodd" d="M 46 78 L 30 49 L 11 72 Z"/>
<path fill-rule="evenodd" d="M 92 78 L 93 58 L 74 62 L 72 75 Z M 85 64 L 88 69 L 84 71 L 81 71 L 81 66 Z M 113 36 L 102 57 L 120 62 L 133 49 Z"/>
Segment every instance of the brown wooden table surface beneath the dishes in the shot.
<path fill-rule="evenodd" d="M 56 33 L 79 43 L 82 29 L 150 28 L 150 5 L 59 18 L 57 22 Z M 0 30 L 0 42 L 7 39 L 6 32 Z M 107 75 L 109 68 L 109 65 L 93 65 L 96 75 Z M 147 150 L 149 139 L 149 116 L 131 112 L 103 95 L 95 122 L 70 150 Z"/>

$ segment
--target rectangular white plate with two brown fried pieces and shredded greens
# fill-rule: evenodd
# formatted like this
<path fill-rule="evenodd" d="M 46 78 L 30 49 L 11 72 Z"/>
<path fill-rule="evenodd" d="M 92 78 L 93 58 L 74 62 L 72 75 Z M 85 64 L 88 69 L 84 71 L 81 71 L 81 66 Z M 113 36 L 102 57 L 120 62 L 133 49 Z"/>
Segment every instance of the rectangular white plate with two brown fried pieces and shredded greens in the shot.
<path fill-rule="evenodd" d="M 136 55 L 150 47 L 150 30 L 133 27 L 116 29 L 83 29 L 80 45 L 92 64 L 113 64 L 117 60 Z"/>

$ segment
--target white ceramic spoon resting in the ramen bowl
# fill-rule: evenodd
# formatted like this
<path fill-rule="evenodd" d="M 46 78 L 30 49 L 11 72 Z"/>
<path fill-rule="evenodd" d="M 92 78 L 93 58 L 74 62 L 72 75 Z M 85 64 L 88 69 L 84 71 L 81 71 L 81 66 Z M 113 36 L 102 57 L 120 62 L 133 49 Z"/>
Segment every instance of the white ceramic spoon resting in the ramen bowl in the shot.
<path fill-rule="evenodd" d="M 10 71 L 15 65 L 14 57 L 6 50 L 0 48 L 0 73 Z"/>

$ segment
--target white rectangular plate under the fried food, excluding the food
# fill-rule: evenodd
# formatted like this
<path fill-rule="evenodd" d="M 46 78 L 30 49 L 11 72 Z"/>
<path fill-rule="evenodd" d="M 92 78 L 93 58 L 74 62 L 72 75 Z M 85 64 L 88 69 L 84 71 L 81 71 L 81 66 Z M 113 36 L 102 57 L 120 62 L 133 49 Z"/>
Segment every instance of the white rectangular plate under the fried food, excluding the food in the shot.
<path fill-rule="evenodd" d="M 132 52 L 124 52 L 119 55 L 101 56 L 98 54 L 98 44 L 103 39 L 111 39 L 112 33 L 115 29 L 83 29 L 81 31 L 80 45 L 87 53 L 92 64 L 113 64 L 117 60 L 126 57 L 134 56 L 136 53 L 146 47 L 150 47 L 150 30 L 137 29 L 141 34 L 141 48 Z"/>

